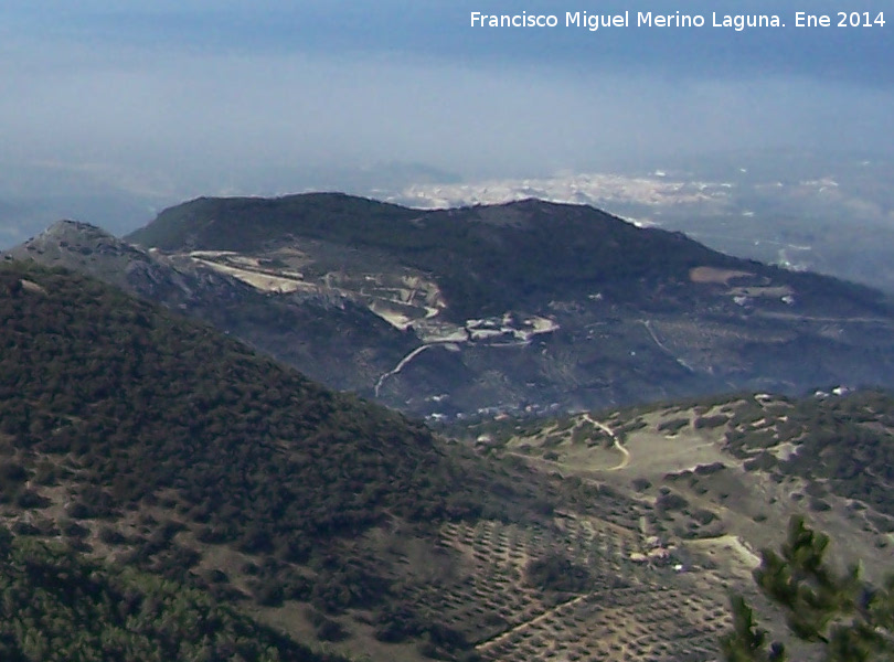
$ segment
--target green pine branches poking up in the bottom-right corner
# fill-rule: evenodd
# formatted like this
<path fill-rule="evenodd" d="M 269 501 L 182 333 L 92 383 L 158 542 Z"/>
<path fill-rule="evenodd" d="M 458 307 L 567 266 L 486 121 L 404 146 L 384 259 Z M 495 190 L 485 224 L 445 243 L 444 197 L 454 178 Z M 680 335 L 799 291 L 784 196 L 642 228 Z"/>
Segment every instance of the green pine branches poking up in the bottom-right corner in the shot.
<path fill-rule="evenodd" d="M 894 660 L 894 575 L 875 587 L 861 579 L 859 567 L 837 573 L 823 558 L 828 545 L 828 535 L 792 517 L 780 552 L 763 553 L 755 581 L 785 611 L 789 632 L 821 649 L 826 662 Z M 728 662 L 788 659 L 742 597 L 734 596 L 732 607 L 733 631 L 721 642 Z"/>

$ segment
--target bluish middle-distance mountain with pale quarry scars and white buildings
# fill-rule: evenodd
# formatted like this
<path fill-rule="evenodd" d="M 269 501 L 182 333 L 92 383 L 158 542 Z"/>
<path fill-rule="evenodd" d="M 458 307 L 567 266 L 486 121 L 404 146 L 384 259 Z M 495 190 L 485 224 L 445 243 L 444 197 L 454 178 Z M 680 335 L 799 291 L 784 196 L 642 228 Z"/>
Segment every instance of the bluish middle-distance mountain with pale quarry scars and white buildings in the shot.
<path fill-rule="evenodd" d="M 123 284 L 110 275 L 120 265 L 100 267 L 100 252 L 53 234 L 11 254 Z M 187 312 L 326 384 L 433 419 L 894 381 L 894 317 L 880 292 L 587 206 L 199 199 L 127 241 L 143 247 L 138 263 L 227 284 L 196 287 Z M 183 308 L 180 295 L 123 285 Z"/>

